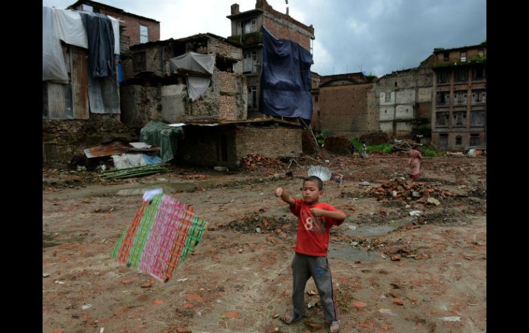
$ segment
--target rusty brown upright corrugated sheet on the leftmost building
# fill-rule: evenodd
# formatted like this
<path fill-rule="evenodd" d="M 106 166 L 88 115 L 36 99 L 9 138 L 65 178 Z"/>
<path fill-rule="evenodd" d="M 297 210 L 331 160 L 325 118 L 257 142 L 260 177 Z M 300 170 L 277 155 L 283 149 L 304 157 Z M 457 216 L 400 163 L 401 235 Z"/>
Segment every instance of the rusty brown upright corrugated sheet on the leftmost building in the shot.
<path fill-rule="evenodd" d="M 71 97 L 75 119 L 89 119 L 88 50 L 70 45 Z"/>

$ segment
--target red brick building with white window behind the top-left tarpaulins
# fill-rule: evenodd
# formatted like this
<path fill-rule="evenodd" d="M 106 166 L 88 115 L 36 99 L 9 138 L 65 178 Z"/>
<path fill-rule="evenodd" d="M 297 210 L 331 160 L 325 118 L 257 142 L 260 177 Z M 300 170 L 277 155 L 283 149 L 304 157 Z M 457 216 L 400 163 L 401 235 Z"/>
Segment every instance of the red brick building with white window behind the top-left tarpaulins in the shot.
<path fill-rule="evenodd" d="M 69 5 L 67 9 L 102 13 L 120 19 L 120 37 L 124 45 L 130 46 L 160 40 L 160 23 L 154 19 L 89 0 L 79 0 Z"/>

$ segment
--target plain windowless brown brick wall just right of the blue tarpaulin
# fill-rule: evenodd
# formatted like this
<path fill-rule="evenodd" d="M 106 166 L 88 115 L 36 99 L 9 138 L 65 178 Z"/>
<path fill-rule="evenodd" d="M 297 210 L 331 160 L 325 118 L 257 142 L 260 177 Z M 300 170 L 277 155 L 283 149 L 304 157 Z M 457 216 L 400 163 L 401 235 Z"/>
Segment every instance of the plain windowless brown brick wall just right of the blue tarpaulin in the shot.
<path fill-rule="evenodd" d="M 373 84 L 349 84 L 319 88 L 319 123 L 333 135 L 359 137 L 376 132 Z M 368 101 L 369 100 L 369 101 Z"/>

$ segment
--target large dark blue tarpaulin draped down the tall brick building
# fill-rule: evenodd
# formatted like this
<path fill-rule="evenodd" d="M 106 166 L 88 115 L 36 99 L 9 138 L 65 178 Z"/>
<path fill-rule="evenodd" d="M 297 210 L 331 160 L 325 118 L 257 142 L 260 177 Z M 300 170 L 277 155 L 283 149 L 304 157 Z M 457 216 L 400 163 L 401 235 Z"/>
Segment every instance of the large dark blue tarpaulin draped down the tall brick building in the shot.
<path fill-rule="evenodd" d="M 309 51 L 262 27 L 261 112 L 312 119 L 312 62 Z"/>

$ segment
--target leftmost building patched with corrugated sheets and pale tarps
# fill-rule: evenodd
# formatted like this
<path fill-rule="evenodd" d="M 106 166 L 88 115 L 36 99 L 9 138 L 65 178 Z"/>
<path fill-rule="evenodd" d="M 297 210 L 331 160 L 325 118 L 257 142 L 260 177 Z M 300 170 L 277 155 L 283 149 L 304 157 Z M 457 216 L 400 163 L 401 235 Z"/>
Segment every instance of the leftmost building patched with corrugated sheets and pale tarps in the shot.
<path fill-rule="evenodd" d="M 85 1 L 94 3 L 93 1 Z M 75 4 L 77 7 L 81 2 Z M 98 4 L 102 5 L 102 4 Z M 74 6 L 74 5 L 72 5 Z M 105 5 L 102 5 L 105 6 Z M 103 7 L 94 7 L 91 12 L 105 12 Z M 106 7 L 105 7 L 106 8 Z M 87 8 L 84 8 L 85 10 Z M 80 12 L 60 10 L 43 6 L 43 46 L 58 45 L 59 57 L 46 59 L 57 61 L 62 58 L 65 71 L 64 79 L 45 76 L 49 65 L 45 66 L 45 48 L 43 47 L 43 163 L 50 166 L 65 166 L 75 154 L 82 153 L 84 148 L 113 139 L 134 141 L 138 133 L 120 122 L 120 84 L 118 75 L 118 57 L 126 53 L 128 45 L 123 41 L 120 32 L 122 22 L 111 19 L 115 43 L 112 56 L 115 70 L 111 76 L 92 77 L 89 73 L 89 49 L 86 30 L 81 22 Z M 114 13 L 113 13 L 114 14 Z M 115 15 L 115 14 L 114 14 Z M 108 17 L 108 16 L 107 16 Z M 65 31 L 65 40 L 56 36 L 53 31 L 58 19 L 63 24 L 60 29 L 76 31 L 77 38 Z M 65 20 L 65 21 L 64 21 Z M 157 22 L 152 19 L 150 21 Z M 92 29 L 92 28 L 88 28 Z M 84 35 L 84 38 L 83 38 Z M 155 38 L 154 36 L 153 38 Z M 157 37 L 156 37 L 157 38 Z M 46 40 L 46 43 L 44 41 Z M 46 51 L 47 52 L 47 51 Z"/>

